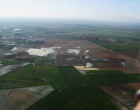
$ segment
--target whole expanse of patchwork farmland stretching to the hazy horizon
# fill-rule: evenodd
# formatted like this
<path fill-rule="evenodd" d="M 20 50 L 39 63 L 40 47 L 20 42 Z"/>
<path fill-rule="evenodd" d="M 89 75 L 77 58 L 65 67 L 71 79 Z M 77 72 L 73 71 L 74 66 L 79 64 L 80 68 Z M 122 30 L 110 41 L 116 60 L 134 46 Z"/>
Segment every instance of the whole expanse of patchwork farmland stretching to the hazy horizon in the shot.
<path fill-rule="evenodd" d="M 140 27 L 56 22 L 1 23 L 0 96 L 17 90 L 9 94 L 13 100 L 15 93 L 31 95 L 27 110 L 132 110 L 140 84 Z M 36 87 L 54 91 L 36 100 L 29 89 Z"/>

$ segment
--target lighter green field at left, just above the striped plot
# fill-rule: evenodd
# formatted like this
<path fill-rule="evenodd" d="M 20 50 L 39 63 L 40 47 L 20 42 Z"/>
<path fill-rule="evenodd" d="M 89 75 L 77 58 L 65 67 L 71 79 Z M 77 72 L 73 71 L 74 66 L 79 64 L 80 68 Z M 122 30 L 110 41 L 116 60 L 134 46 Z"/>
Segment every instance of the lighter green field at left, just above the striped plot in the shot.
<path fill-rule="evenodd" d="M 67 88 L 56 66 L 33 66 L 31 64 L 13 70 L 0 77 L 0 89 L 51 85 L 53 88 Z M 12 83 L 10 83 L 12 82 Z"/>

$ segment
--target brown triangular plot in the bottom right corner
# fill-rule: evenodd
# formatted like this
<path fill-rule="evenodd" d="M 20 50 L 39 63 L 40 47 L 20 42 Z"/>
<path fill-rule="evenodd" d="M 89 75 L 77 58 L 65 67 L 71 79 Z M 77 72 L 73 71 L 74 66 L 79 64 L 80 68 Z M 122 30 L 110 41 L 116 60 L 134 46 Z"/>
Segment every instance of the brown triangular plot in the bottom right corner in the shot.
<path fill-rule="evenodd" d="M 133 84 L 134 86 L 140 84 Z M 135 92 L 136 89 L 129 86 L 129 84 L 124 85 L 113 85 L 113 86 L 101 86 L 102 90 L 110 94 L 122 105 L 126 106 L 128 109 L 133 110 L 136 105 Z M 139 89 L 139 88 L 138 88 Z"/>

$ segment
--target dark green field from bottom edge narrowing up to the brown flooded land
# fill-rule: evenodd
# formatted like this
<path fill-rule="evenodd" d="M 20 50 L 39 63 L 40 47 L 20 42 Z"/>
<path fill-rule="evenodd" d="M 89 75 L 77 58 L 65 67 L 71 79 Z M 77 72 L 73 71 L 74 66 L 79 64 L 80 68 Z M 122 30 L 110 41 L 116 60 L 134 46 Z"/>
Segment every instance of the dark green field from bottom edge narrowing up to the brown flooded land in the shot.
<path fill-rule="evenodd" d="M 52 92 L 27 110 L 117 110 L 111 97 L 73 67 L 59 67 L 69 86 Z"/>

